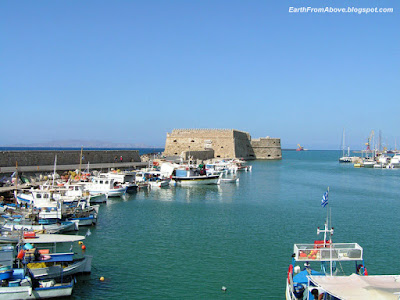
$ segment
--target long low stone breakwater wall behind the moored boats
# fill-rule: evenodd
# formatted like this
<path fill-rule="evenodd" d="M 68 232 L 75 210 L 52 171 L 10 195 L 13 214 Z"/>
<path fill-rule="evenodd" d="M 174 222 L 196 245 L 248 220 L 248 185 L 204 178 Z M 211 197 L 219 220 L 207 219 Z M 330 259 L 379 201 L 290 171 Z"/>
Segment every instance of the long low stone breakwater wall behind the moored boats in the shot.
<path fill-rule="evenodd" d="M 57 155 L 57 165 L 79 164 L 80 150 L 43 150 L 43 151 L 1 151 L 0 167 L 13 167 L 16 162 L 18 166 L 46 166 L 54 165 Z M 113 163 L 140 162 L 138 150 L 84 150 L 82 164 L 90 163 Z"/>

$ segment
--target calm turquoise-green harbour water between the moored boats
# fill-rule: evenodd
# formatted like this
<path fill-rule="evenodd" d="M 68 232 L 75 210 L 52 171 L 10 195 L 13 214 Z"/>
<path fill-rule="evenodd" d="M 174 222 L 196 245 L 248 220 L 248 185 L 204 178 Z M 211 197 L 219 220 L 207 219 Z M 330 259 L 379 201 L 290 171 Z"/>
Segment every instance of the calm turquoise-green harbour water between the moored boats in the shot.
<path fill-rule="evenodd" d="M 73 299 L 284 299 L 293 244 L 317 239 L 328 186 L 334 241 L 358 242 L 369 274 L 398 274 L 400 169 L 339 164 L 339 151 L 283 155 L 252 162 L 239 185 L 153 189 L 102 205 L 85 241 L 92 274 Z"/>

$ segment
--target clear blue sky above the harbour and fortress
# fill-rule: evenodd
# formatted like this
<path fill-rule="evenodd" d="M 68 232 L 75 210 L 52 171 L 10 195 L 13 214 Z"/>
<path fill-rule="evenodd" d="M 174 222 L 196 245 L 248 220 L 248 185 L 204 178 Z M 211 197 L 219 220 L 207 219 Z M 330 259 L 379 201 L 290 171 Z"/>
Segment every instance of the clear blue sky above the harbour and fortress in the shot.
<path fill-rule="evenodd" d="M 0 26 L 0 145 L 164 146 L 174 128 L 309 149 L 339 149 L 343 128 L 360 149 L 382 130 L 400 145 L 398 0 L 3 0 Z"/>

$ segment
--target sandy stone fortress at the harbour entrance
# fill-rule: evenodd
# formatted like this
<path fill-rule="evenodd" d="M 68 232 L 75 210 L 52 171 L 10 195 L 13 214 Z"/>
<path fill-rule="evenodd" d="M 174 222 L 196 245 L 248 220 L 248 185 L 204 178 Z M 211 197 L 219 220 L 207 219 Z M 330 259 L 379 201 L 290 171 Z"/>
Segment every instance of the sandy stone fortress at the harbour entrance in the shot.
<path fill-rule="evenodd" d="M 279 138 L 252 139 L 236 129 L 174 129 L 167 133 L 164 156 L 194 159 L 282 159 Z"/>

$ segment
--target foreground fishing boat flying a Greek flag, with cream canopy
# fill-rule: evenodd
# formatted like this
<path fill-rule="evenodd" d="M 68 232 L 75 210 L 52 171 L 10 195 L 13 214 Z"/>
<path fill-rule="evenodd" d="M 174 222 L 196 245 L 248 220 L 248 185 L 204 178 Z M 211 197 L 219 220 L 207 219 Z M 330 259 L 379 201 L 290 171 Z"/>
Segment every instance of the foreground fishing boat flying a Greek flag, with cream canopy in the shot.
<path fill-rule="evenodd" d="M 323 206 L 327 205 L 327 198 L 328 192 L 324 194 Z M 328 221 L 327 217 L 324 229 L 317 229 L 317 235 L 324 235 L 322 240 L 294 245 L 286 278 L 286 299 L 397 300 L 400 276 L 367 276 L 363 248 L 357 243 L 333 243 L 333 227 L 329 228 Z"/>

